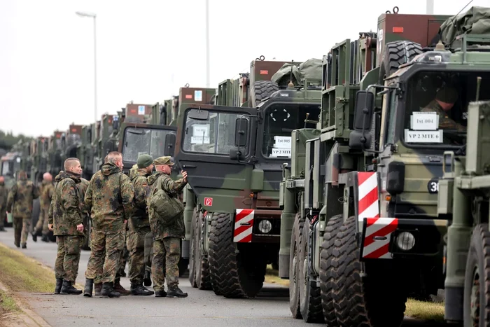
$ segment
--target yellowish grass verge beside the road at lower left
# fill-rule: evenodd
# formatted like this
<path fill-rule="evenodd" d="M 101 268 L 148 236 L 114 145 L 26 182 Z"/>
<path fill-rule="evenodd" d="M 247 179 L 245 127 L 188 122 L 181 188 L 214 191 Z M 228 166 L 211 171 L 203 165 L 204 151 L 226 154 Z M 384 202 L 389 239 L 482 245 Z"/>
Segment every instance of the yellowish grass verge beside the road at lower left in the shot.
<path fill-rule="evenodd" d="M 52 293 L 55 274 L 24 254 L 0 245 L 1 282 L 10 291 Z"/>

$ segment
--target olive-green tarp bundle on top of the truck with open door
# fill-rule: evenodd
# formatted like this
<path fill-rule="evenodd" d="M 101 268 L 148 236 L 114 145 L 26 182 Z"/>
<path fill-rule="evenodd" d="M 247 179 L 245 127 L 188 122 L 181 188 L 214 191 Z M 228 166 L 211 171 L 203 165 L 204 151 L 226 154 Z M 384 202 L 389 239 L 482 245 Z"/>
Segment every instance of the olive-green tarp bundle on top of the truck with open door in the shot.
<path fill-rule="evenodd" d="M 272 75 L 271 81 L 276 82 L 279 86 L 287 86 L 290 80 L 291 63 L 283 64 L 283 66 Z M 293 83 L 294 85 L 302 85 L 305 78 L 318 78 L 318 81 L 311 83 L 312 85 L 321 85 L 321 59 L 311 58 L 301 64 L 293 64 Z"/>

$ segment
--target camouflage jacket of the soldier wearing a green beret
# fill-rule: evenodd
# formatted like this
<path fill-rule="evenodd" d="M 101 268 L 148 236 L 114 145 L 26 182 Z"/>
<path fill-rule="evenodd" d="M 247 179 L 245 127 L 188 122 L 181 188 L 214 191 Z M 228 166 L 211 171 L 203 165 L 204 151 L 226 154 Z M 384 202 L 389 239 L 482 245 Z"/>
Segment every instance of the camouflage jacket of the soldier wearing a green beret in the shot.
<path fill-rule="evenodd" d="M 148 189 L 147 177 L 150 176 L 146 169 L 130 170 L 131 183 L 134 188 L 134 211 L 131 223 L 135 230 L 150 226 L 148 221 L 148 209 L 146 207 L 146 190 Z"/>

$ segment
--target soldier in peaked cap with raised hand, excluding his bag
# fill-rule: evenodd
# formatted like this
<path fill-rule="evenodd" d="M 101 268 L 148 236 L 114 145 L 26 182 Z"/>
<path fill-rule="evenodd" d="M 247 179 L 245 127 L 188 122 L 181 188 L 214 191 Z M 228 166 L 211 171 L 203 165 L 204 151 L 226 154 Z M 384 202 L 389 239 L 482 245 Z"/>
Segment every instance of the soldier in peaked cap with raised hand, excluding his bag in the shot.
<path fill-rule="evenodd" d="M 172 181 L 172 162 L 170 157 L 160 157 L 153 161 L 155 174 L 148 177 L 148 185 L 151 185 L 149 194 L 153 194 L 158 188 L 164 190 L 170 197 L 178 197 L 187 184 L 187 172 L 182 172 L 182 179 Z M 149 197 L 148 197 L 149 198 Z M 186 298 L 179 288 L 179 260 L 181 258 L 181 239 L 185 237 L 186 229 L 181 214 L 172 225 L 162 225 L 160 217 L 156 218 L 151 210 L 148 210 L 151 231 L 153 232 L 153 262 L 151 274 L 153 274 L 153 290 L 155 297 Z M 167 275 L 168 293 L 164 290 L 165 277 L 163 266 Z"/>

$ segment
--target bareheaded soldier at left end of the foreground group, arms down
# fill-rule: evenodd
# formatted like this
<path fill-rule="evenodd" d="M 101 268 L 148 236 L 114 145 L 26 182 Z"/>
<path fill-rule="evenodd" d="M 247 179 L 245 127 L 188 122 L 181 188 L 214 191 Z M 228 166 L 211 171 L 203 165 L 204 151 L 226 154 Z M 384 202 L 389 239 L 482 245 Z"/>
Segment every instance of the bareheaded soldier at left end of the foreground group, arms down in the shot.
<path fill-rule="evenodd" d="M 83 214 L 80 195 L 82 168 L 77 158 L 64 160 L 64 171 L 56 176 L 55 195 L 48 212 L 49 230 L 57 238 L 55 294 L 81 294 L 73 287 L 83 244 Z"/>

